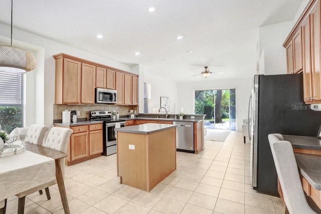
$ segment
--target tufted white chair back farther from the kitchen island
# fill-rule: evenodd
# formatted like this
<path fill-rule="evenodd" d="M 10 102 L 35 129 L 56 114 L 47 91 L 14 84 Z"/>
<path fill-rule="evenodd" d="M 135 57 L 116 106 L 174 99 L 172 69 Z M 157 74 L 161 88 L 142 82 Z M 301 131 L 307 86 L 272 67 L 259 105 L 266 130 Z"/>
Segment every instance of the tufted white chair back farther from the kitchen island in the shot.
<path fill-rule="evenodd" d="M 29 127 L 25 142 L 43 145 L 48 126 L 33 124 Z"/>

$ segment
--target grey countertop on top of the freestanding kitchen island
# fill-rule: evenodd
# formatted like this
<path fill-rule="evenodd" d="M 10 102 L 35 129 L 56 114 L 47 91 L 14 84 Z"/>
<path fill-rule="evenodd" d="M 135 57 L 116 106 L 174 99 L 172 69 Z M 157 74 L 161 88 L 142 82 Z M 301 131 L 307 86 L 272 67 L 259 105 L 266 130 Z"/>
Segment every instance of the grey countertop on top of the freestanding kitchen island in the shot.
<path fill-rule="evenodd" d="M 136 134 L 150 134 L 165 129 L 175 128 L 176 125 L 172 124 L 158 124 L 158 123 L 146 123 L 135 126 L 125 126 L 121 128 L 115 128 L 115 131 L 128 132 Z"/>

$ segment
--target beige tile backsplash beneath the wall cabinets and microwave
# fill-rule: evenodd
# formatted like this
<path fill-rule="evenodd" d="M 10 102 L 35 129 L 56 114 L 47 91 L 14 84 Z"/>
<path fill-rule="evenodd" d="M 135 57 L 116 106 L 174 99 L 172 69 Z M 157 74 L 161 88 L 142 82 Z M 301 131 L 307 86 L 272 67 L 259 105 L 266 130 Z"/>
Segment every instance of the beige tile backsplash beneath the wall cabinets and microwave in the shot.
<path fill-rule="evenodd" d="M 92 104 L 92 105 L 56 105 L 54 104 L 54 120 L 62 120 L 62 112 L 65 110 L 80 111 L 78 118 L 87 118 L 89 120 L 89 111 L 95 110 L 115 110 L 120 116 L 128 116 L 129 110 L 136 110 L 138 112 L 138 106 L 117 106 L 106 104 Z"/>

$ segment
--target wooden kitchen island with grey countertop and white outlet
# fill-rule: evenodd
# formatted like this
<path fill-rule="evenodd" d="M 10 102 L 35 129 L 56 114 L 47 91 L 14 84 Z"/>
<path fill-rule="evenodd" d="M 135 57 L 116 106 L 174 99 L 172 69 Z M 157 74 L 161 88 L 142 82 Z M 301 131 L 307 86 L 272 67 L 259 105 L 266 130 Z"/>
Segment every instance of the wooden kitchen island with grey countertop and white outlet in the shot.
<path fill-rule="evenodd" d="M 176 170 L 176 125 L 116 128 L 120 183 L 149 192 Z"/>

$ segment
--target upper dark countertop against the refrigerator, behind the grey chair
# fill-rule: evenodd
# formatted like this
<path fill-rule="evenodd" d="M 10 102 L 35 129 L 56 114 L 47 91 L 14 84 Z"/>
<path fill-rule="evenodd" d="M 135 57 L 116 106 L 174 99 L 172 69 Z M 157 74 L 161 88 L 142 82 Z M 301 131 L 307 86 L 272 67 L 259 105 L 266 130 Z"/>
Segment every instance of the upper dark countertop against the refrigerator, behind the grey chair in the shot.
<path fill-rule="evenodd" d="M 321 138 L 299 135 L 282 134 L 284 140 L 289 141 L 293 148 L 321 150 Z"/>

